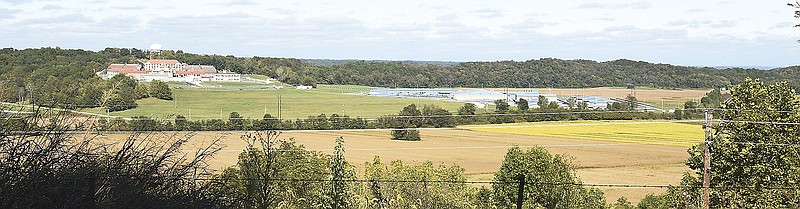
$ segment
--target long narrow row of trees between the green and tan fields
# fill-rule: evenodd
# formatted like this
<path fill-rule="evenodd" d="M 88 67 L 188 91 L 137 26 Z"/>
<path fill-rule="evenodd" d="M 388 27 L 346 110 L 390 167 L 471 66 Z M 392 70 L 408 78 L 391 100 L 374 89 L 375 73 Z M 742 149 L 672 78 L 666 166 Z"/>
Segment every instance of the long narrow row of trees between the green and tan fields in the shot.
<path fill-rule="evenodd" d="M 465 106 L 469 109 L 470 105 Z M 464 108 L 464 107 L 462 107 Z M 257 131 L 257 130 L 344 130 L 344 129 L 416 129 L 451 128 L 458 125 L 501 124 L 539 121 L 567 120 L 680 120 L 699 118 L 701 112 L 678 111 L 640 112 L 603 111 L 564 108 L 531 108 L 526 111 L 516 109 L 503 113 L 457 113 L 435 106 L 425 105 L 417 109 L 410 104 L 397 115 L 376 118 L 350 117 L 347 115 L 320 114 L 305 119 L 282 119 L 271 114 L 263 118 L 242 118 L 231 112 L 227 119 L 188 119 L 177 115 L 175 118 L 151 118 L 145 116 L 123 118 L 98 118 L 92 124 L 95 131 Z M 474 111 L 474 110 L 473 110 Z M 399 137 L 399 136 L 398 136 Z"/>

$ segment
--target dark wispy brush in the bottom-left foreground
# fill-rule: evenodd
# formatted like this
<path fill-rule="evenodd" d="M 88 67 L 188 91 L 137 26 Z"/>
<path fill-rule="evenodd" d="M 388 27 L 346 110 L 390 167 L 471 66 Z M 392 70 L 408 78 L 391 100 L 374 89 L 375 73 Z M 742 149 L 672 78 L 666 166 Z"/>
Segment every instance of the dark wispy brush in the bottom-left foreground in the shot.
<path fill-rule="evenodd" d="M 196 181 L 204 160 L 180 148 L 191 134 L 133 134 L 101 145 L 69 133 L 81 122 L 63 112 L 0 118 L 0 208 L 213 208 L 216 194 Z"/>

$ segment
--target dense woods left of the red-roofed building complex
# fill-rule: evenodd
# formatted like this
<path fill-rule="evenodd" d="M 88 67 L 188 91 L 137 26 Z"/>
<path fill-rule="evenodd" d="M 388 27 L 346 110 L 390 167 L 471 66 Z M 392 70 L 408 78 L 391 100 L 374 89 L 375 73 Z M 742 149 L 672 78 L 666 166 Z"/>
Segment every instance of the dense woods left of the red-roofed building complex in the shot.
<path fill-rule="evenodd" d="M 125 51 L 125 53 L 122 53 Z M 95 72 L 111 63 L 138 63 L 141 50 L 101 51 L 59 48 L 0 50 L 0 101 L 66 109 L 103 107 L 108 111 L 135 108 L 136 100 L 171 100 L 166 83 L 138 83 L 117 75 L 103 80 Z"/>

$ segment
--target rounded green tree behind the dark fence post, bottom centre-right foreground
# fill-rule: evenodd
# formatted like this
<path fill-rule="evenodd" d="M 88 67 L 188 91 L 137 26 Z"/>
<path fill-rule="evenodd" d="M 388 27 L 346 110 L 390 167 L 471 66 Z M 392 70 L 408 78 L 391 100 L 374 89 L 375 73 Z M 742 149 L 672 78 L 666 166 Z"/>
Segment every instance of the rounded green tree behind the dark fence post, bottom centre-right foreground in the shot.
<path fill-rule="evenodd" d="M 527 151 L 514 147 L 506 153 L 500 170 L 494 175 L 498 182 L 515 182 L 525 177 L 523 207 L 525 208 L 605 208 L 603 192 L 579 186 L 573 166 L 566 156 L 551 155 L 541 147 Z M 517 200 L 517 184 L 494 184 L 498 208 L 512 208 Z"/>

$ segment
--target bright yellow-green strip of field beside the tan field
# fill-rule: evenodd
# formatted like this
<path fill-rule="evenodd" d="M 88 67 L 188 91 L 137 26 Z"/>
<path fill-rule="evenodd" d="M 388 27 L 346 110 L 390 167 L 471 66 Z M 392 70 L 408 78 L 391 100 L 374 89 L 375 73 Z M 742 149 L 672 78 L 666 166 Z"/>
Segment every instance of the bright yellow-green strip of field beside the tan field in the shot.
<path fill-rule="evenodd" d="M 670 121 L 559 121 L 459 126 L 505 134 L 689 147 L 703 140 L 701 125 Z"/>

